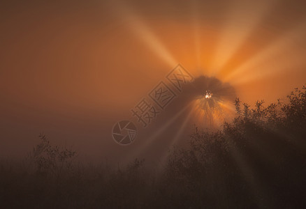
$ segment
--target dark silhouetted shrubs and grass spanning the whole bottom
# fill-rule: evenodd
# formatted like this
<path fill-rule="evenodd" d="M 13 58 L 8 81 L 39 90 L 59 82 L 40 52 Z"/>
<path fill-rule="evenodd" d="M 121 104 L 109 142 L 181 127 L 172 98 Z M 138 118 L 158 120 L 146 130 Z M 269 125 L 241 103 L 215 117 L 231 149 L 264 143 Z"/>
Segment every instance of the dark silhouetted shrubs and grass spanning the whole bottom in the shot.
<path fill-rule="evenodd" d="M 1 164 L 1 208 L 305 208 L 305 86 L 268 106 L 234 102 L 231 123 L 195 126 L 159 176 L 139 159 L 117 170 L 75 164 L 75 151 L 40 135 L 37 172 Z"/>

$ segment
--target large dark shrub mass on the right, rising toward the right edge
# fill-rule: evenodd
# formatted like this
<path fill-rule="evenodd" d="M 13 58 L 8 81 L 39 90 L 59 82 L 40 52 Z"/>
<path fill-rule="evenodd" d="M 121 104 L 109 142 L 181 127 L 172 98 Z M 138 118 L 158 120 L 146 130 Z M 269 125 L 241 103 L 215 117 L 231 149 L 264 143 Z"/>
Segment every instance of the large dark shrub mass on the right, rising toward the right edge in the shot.
<path fill-rule="evenodd" d="M 305 206 L 305 90 L 296 88 L 287 103 L 268 107 L 257 101 L 250 108 L 236 98 L 237 116 L 223 130 L 196 127 L 189 149 L 169 157 L 166 182 L 176 192 L 173 204 L 184 194 L 179 204 L 187 208 Z"/>

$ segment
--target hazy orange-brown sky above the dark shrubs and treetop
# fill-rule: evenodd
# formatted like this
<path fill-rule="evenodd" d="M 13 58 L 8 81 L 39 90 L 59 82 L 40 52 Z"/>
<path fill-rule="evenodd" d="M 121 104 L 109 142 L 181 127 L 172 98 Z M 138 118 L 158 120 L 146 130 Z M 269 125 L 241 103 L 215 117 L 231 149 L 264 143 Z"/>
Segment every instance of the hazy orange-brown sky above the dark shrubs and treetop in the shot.
<path fill-rule="evenodd" d="M 23 156 L 39 133 L 89 160 L 159 155 L 169 144 L 158 137 L 145 146 L 140 133 L 130 146 L 119 146 L 111 130 L 131 118 L 130 109 L 177 63 L 194 77 L 228 82 L 245 102 L 284 98 L 306 82 L 305 6 L 282 0 L 1 1 L 0 157 Z"/>

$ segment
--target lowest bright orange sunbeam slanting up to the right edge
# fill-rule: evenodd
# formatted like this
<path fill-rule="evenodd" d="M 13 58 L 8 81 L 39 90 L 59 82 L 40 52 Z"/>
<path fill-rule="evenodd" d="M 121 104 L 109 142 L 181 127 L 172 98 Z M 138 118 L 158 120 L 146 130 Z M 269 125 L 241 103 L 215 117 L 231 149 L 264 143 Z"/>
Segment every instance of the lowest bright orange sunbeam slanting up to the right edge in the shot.
<path fill-rule="evenodd" d="M 305 35 L 303 26 L 298 26 L 296 29 L 287 32 L 282 38 L 279 38 L 272 45 L 266 47 L 261 54 L 257 54 L 239 68 L 232 70 L 229 75 L 224 77 L 224 82 L 242 84 L 254 79 L 274 75 L 277 72 L 291 72 L 293 66 L 299 66 L 305 63 L 302 52 L 304 49 L 300 49 L 300 53 L 296 49 L 297 43 Z M 293 49 L 295 49 L 294 53 L 292 53 Z M 277 63 L 275 60 L 278 60 Z"/>

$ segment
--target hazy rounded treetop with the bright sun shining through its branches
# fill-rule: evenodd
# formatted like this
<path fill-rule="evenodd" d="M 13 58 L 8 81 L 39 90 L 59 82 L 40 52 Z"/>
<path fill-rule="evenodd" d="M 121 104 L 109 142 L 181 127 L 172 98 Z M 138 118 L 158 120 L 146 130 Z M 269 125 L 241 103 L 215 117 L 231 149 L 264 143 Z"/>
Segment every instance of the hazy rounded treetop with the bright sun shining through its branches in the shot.
<path fill-rule="evenodd" d="M 235 88 L 216 77 L 200 76 L 185 86 L 178 103 L 191 102 L 191 124 L 217 129 L 234 114 Z M 177 104 L 178 105 L 178 104 Z"/>

